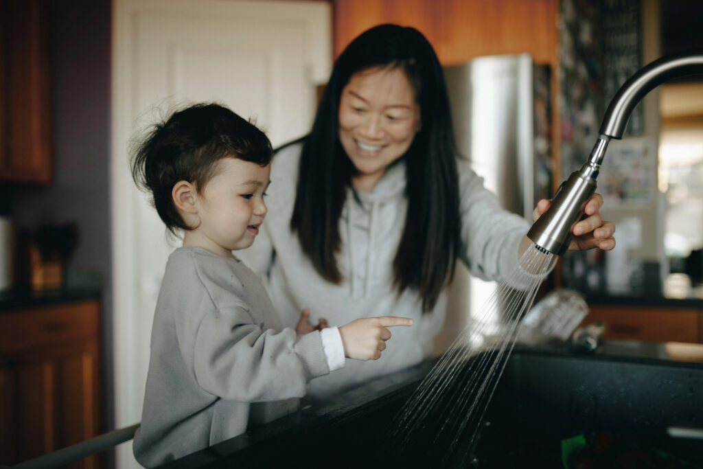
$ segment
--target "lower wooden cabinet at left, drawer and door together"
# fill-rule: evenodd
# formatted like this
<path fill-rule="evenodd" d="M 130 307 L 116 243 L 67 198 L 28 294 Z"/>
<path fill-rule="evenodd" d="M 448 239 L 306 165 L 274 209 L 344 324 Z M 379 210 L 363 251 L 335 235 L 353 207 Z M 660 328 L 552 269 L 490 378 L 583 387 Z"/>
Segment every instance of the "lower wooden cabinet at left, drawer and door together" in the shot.
<path fill-rule="evenodd" d="M 97 300 L 0 312 L 0 464 L 99 434 L 99 317 Z"/>

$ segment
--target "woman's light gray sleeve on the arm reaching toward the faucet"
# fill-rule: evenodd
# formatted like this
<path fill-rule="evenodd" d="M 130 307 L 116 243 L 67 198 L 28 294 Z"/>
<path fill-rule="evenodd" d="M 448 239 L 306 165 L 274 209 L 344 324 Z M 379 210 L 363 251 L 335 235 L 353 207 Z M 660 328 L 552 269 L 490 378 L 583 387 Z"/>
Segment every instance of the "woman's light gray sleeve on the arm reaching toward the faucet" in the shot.
<path fill-rule="evenodd" d="M 461 252 L 472 275 L 484 280 L 505 281 L 516 269 L 520 240 L 529 224 L 517 214 L 503 210 L 498 198 L 468 162 L 458 161 Z"/>

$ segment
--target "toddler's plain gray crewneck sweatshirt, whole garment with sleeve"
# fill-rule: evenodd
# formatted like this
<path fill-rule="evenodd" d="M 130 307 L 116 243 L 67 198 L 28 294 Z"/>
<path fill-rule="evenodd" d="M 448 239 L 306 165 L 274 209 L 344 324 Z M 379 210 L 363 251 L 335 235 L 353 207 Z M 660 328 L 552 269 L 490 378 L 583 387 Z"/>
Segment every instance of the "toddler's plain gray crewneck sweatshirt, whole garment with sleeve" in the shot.
<path fill-rule="evenodd" d="M 153 467 L 297 409 L 329 373 L 320 333 L 283 328 L 259 278 L 202 248 L 169 257 L 134 456 Z"/>

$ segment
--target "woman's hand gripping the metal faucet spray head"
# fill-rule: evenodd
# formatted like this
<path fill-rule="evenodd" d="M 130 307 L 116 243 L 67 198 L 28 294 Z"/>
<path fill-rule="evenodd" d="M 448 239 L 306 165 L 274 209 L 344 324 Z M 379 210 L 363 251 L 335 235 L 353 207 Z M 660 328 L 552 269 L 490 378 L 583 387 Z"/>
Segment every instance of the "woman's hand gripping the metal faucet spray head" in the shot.
<path fill-rule="evenodd" d="M 552 205 L 550 200 L 540 200 L 532 213 L 532 218 L 536 221 L 550 205 Z M 615 247 L 615 238 L 613 238 L 615 225 L 612 221 L 603 221 L 600 218 L 599 210 L 602 205 L 603 198 L 598 193 L 588 199 L 584 210 L 586 217 L 574 225 L 574 236 L 569 243 L 569 251 L 585 251 L 593 248 L 610 251 Z"/>

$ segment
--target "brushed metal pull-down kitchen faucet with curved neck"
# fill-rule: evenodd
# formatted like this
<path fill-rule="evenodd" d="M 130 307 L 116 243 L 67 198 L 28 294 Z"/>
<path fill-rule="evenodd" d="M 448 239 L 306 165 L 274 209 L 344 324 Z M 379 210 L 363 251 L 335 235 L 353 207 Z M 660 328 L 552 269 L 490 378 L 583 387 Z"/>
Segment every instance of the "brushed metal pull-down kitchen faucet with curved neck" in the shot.
<path fill-rule="evenodd" d="M 534 222 L 527 237 L 541 252 L 562 255 L 569 248 L 572 228 L 583 216 L 583 207 L 595 192 L 605 150 L 610 139 L 621 139 L 627 120 L 637 103 L 669 79 L 703 74 L 703 51 L 678 53 L 654 60 L 638 70 L 617 91 L 605 111 L 598 141 L 588 161 L 564 181 L 547 212 Z"/>

